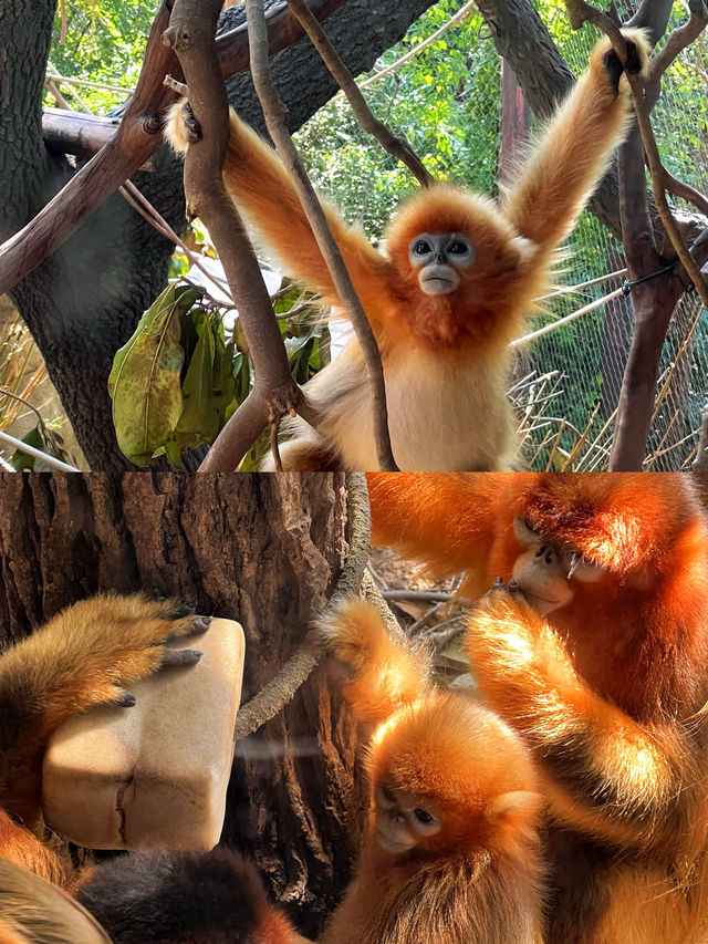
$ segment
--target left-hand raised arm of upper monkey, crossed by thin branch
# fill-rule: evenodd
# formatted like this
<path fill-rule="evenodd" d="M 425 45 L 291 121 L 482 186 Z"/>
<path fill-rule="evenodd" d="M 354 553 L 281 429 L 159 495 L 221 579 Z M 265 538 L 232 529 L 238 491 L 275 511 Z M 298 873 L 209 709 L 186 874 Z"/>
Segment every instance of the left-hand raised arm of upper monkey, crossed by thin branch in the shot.
<path fill-rule="evenodd" d="M 187 149 L 183 103 L 171 106 L 165 137 L 178 153 Z M 280 158 L 233 112 L 223 160 L 223 181 L 240 210 L 278 252 L 290 274 L 326 301 L 340 304 L 327 267 L 303 212 L 298 193 Z M 327 224 L 342 252 L 356 293 L 374 322 L 391 298 L 395 273 L 360 228 L 350 227 L 325 203 Z"/>

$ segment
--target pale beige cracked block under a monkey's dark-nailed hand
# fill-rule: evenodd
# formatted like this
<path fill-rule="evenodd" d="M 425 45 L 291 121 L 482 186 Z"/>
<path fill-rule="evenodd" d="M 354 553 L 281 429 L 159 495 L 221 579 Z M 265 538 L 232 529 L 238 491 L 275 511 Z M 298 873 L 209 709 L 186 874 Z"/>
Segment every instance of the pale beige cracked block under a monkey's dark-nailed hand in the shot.
<path fill-rule="evenodd" d="M 223 826 L 244 639 L 215 619 L 171 649 L 204 652 L 131 686 L 132 708 L 75 715 L 44 755 L 44 819 L 90 849 L 209 850 Z"/>

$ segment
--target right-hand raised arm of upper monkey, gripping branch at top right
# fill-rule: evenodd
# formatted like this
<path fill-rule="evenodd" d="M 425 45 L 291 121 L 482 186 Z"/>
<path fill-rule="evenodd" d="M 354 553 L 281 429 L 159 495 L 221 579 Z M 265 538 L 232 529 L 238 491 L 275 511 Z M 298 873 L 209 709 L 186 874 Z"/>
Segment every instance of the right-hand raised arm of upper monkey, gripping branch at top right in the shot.
<path fill-rule="evenodd" d="M 633 43 L 626 68 L 644 70 L 648 46 L 643 34 L 623 34 Z M 507 198 L 506 215 L 542 252 L 571 231 L 624 137 L 632 96 L 622 72 L 610 41 L 598 42 L 587 71 L 556 111 Z"/>

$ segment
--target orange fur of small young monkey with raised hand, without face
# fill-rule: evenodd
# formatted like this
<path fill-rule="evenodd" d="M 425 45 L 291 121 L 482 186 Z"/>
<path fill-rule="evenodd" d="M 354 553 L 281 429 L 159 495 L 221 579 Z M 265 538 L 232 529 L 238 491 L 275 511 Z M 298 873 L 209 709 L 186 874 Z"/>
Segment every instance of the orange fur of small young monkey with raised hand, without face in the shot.
<path fill-rule="evenodd" d="M 354 676 L 344 693 L 355 715 L 379 725 L 356 875 L 323 941 L 540 944 L 540 798 L 519 738 L 464 695 L 436 691 L 427 657 L 394 642 L 368 604 L 347 604 L 325 631 Z M 406 852 L 382 848 L 379 785 L 416 798 L 439 831 Z"/>

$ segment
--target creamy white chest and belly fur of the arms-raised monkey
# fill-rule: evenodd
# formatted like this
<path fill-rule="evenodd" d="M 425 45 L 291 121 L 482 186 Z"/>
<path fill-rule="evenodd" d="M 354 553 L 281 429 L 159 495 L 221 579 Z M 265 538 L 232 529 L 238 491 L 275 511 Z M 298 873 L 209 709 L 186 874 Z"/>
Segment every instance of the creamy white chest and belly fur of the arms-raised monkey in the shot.
<path fill-rule="evenodd" d="M 441 363 L 439 353 L 421 351 L 387 365 L 388 426 L 398 467 L 407 471 L 508 468 L 513 422 L 509 404 L 498 393 L 504 387 L 506 367 L 506 362 L 461 367 Z M 372 397 L 358 349 L 343 353 L 336 372 L 329 373 L 327 367 L 306 387 L 325 417 L 320 433 L 346 468 L 377 469 Z M 294 428 L 295 438 L 314 442 L 316 434 L 306 424 Z"/>

